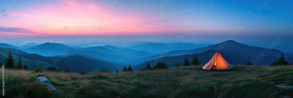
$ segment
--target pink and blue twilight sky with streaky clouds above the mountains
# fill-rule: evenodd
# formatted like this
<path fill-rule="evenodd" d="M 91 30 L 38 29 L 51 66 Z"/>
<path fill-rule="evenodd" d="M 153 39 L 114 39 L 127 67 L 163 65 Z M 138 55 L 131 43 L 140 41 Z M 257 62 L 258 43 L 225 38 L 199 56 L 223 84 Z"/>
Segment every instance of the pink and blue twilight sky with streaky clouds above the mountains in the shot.
<path fill-rule="evenodd" d="M 167 1 L 1 0 L 0 39 L 64 42 L 84 32 L 83 40 L 99 41 L 170 41 L 177 34 L 194 42 L 292 41 L 290 0 Z"/>

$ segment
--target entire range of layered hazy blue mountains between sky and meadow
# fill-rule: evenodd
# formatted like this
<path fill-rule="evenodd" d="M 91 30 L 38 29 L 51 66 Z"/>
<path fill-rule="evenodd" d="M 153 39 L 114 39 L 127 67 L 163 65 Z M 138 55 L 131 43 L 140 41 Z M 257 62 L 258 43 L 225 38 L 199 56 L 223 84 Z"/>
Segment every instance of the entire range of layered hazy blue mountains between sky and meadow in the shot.
<path fill-rule="evenodd" d="M 70 47 L 71 44 L 69 43 L 28 43 L 22 47 L 17 47 L 15 44 L 0 43 L 0 60 L 5 60 L 8 50 L 12 50 L 16 58 L 18 58 L 16 55 L 23 56 L 24 63 L 28 64 L 30 68 L 42 63 L 45 67 L 55 66 L 72 71 L 91 71 L 95 68 L 115 71 L 116 69 L 122 70 L 124 64 L 132 64 L 134 70 L 138 70 L 144 68 L 147 61 L 155 64 L 158 60 L 166 61 L 168 67 L 174 67 L 176 64 L 182 65 L 186 57 L 191 60 L 195 53 L 200 57 L 202 64 L 205 64 L 217 50 L 232 65 L 243 65 L 247 61 L 252 61 L 256 65 L 269 65 L 278 60 L 280 50 L 284 50 L 286 60 L 293 62 L 293 55 L 290 54 L 293 53 L 292 48 L 278 46 L 273 49 L 266 49 L 248 46 L 232 40 L 218 44 L 139 41 L 131 42 L 127 47 L 116 45 L 119 42 L 106 43 L 84 41 L 74 45 L 74 47 Z M 260 59 L 262 53 L 265 56 Z M 57 57 L 62 57 L 62 61 L 58 64 L 53 64 L 52 60 Z"/>

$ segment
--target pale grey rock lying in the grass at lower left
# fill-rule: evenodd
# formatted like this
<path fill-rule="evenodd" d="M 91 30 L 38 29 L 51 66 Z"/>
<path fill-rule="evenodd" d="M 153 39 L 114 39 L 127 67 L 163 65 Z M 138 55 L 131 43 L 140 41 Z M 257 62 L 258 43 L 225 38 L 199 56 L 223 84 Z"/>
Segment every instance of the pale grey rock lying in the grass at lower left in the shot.
<path fill-rule="evenodd" d="M 48 79 L 45 76 L 38 77 L 35 82 L 40 82 L 40 84 L 49 88 L 53 93 L 59 93 L 59 91 L 53 87 L 53 85 L 48 81 Z"/>

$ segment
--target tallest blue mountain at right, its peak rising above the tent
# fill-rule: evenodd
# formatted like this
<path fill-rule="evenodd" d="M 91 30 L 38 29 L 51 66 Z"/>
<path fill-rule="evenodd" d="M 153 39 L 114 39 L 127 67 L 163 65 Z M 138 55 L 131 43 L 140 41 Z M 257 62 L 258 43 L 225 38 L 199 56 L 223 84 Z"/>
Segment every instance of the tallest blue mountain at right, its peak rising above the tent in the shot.
<path fill-rule="evenodd" d="M 248 45 L 244 45 L 242 43 L 238 43 L 238 42 L 230 40 L 230 41 L 222 42 L 219 44 L 215 44 L 215 45 L 211 45 L 211 46 L 207 46 L 207 47 L 203 47 L 203 48 L 197 48 L 197 49 L 193 49 L 193 50 L 176 50 L 176 51 L 170 51 L 168 53 L 161 53 L 159 55 L 153 55 L 150 57 L 145 57 L 145 58 L 139 59 L 139 60 L 137 60 L 137 62 L 145 62 L 147 60 L 154 60 L 158 57 L 159 58 L 166 57 L 166 56 L 170 57 L 170 56 L 194 54 L 195 52 L 202 53 L 207 50 L 214 50 L 213 52 L 209 53 L 208 56 L 210 56 L 216 52 L 215 49 L 219 49 L 221 51 L 223 51 L 223 50 L 230 51 L 231 53 L 235 53 L 237 55 L 240 55 L 241 57 L 248 57 L 246 59 L 251 59 L 251 60 L 256 59 L 256 56 L 260 56 L 262 53 L 265 53 L 265 57 L 269 57 L 269 56 L 280 57 L 280 53 L 281 53 L 281 51 L 279 51 L 279 50 L 248 46 Z M 233 55 L 231 55 L 231 56 L 233 56 Z M 285 53 L 285 57 L 293 57 L 293 55 Z M 239 61 L 239 60 L 236 60 L 236 61 Z"/>

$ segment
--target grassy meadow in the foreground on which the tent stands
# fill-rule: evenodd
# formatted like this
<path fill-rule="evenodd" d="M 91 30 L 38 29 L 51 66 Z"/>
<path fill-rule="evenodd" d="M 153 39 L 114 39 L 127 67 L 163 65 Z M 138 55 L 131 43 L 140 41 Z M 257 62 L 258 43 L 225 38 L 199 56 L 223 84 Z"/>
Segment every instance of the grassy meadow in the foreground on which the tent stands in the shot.
<path fill-rule="evenodd" d="M 200 68 L 200 69 L 198 69 Z M 196 70 L 197 69 L 197 70 Z M 31 98 L 267 98 L 293 96 L 275 84 L 293 85 L 293 66 L 234 66 L 231 71 L 203 71 L 201 66 L 121 73 L 34 73 L 5 71 L 5 97 Z M 62 93 L 35 83 L 46 76 Z M 274 82 L 271 84 L 270 82 Z M 216 89 L 215 89 L 216 86 Z"/>

